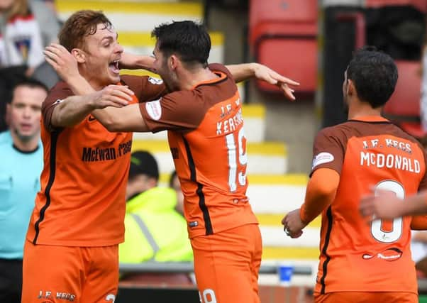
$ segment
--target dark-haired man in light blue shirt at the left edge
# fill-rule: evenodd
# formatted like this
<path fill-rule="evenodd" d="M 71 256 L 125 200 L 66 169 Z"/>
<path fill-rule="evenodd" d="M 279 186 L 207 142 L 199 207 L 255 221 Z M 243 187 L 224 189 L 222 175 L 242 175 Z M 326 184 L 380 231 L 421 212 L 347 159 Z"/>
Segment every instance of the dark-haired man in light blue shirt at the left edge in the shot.
<path fill-rule="evenodd" d="M 23 243 L 40 188 L 41 106 L 48 89 L 25 79 L 7 104 L 10 130 L 0 133 L 0 302 L 21 302 Z"/>

